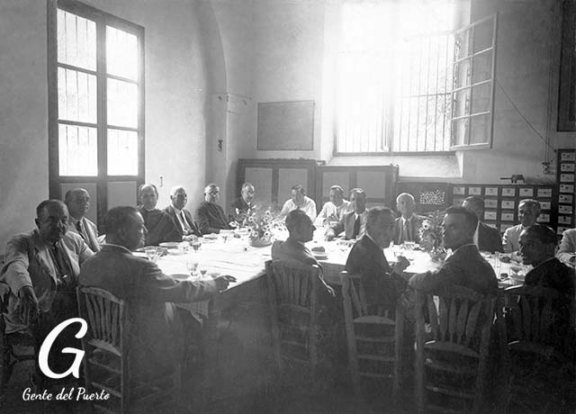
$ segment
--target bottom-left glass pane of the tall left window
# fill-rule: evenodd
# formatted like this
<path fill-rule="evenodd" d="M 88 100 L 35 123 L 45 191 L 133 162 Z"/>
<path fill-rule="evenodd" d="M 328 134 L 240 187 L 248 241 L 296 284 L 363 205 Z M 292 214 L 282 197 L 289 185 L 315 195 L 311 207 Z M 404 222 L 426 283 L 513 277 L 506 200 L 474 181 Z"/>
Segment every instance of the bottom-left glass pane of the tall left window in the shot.
<path fill-rule="evenodd" d="M 58 125 L 59 175 L 98 175 L 96 129 Z"/>

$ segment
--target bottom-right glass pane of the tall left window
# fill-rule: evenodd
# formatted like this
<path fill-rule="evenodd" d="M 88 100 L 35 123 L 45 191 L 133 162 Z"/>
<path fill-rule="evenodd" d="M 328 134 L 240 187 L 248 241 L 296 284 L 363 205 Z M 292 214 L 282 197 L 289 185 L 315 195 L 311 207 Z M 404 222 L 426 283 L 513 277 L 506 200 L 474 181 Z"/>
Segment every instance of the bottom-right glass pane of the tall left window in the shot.
<path fill-rule="evenodd" d="M 108 130 L 108 175 L 138 175 L 138 133 Z"/>

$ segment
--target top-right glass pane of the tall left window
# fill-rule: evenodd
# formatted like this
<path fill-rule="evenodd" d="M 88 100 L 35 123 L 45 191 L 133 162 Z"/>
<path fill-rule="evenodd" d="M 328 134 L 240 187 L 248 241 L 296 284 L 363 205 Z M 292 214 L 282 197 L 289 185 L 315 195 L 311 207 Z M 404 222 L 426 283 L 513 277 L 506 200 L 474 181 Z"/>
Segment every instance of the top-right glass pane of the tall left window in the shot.
<path fill-rule="evenodd" d="M 138 42 L 135 35 L 106 26 L 106 73 L 138 80 Z"/>

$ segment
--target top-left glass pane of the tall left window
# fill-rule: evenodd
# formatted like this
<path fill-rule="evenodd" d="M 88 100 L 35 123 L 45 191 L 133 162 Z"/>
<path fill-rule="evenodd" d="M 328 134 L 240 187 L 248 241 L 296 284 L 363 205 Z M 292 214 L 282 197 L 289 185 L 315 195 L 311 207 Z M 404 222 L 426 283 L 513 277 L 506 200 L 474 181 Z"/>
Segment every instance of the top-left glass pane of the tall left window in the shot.
<path fill-rule="evenodd" d="M 58 9 L 58 63 L 96 70 L 96 23 Z"/>

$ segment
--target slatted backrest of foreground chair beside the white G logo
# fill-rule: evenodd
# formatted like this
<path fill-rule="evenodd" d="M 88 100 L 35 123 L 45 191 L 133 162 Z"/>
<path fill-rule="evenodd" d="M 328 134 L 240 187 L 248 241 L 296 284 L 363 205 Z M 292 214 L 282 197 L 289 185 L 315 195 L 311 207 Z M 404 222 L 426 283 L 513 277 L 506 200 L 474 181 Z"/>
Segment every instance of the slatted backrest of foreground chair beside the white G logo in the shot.
<path fill-rule="evenodd" d="M 122 356 L 128 345 L 128 304 L 114 294 L 97 287 L 78 286 L 78 313 L 88 322 L 83 338 L 92 347 L 99 347 Z"/>

